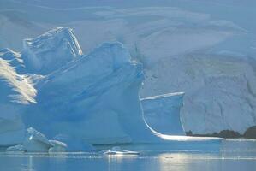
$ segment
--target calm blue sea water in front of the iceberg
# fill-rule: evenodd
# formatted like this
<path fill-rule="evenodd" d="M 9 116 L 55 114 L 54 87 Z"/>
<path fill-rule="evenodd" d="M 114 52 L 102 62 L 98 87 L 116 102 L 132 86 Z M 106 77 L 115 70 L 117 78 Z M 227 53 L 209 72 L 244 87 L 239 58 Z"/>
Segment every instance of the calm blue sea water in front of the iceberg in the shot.
<path fill-rule="evenodd" d="M 139 155 L 102 153 L 0 152 L 2 171 L 39 170 L 256 170 L 255 140 L 232 140 L 220 151 L 140 151 Z"/>

